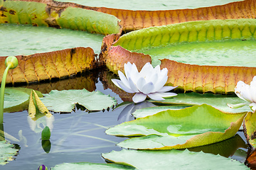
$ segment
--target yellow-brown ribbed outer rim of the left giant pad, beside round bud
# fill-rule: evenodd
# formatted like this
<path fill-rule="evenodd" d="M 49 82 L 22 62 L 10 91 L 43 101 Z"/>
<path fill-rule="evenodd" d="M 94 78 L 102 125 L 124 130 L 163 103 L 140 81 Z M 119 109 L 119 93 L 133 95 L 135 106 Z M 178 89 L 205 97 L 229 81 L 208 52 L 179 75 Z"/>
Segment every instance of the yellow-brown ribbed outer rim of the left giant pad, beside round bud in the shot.
<path fill-rule="evenodd" d="M 9 72 L 6 84 L 60 79 L 96 67 L 95 53 L 90 47 L 75 47 L 16 57 L 18 58 L 18 67 Z M 0 65 L 4 65 L 5 59 L 6 57 L 0 57 Z M 4 74 L 4 69 L 4 67 L 0 67 L 0 77 Z"/>

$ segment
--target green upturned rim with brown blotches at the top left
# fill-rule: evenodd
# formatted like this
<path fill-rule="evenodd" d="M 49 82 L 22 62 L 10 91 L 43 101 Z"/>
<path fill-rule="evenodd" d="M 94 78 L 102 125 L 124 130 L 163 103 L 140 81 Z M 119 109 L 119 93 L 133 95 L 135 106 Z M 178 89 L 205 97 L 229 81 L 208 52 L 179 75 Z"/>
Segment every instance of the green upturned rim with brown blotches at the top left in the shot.
<path fill-rule="evenodd" d="M 103 35 L 119 33 L 122 30 L 119 26 L 119 20 L 115 16 L 83 8 L 60 6 L 58 4 L 47 6 L 34 1 L 1 0 L 0 5 L 0 23 L 70 28 Z M 83 20 L 86 20 L 86 22 L 83 22 Z"/>

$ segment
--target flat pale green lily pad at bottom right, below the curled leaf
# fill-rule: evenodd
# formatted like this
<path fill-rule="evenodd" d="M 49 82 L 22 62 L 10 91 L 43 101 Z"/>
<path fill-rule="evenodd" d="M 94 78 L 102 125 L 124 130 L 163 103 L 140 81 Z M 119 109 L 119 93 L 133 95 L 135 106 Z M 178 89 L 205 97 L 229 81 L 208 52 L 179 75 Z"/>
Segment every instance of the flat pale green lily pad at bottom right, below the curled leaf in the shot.
<path fill-rule="evenodd" d="M 102 154 L 107 161 L 129 164 L 137 169 L 249 169 L 245 164 L 220 155 L 189 152 L 127 150 Z"/>

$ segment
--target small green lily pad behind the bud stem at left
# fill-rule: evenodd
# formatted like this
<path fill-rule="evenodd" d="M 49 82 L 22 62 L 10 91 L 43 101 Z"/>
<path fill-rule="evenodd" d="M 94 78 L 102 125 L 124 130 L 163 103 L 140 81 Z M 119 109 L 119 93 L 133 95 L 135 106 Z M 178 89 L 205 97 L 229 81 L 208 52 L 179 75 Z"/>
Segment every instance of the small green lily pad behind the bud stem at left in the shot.
<path fill-rule="evenodd" d="M 32 89 L 6 88 L 4 91 L 4 112 L 23 111 L 28 109 L 28 99 Z M 36 91 L 42 97 L 40 91 Z"/>

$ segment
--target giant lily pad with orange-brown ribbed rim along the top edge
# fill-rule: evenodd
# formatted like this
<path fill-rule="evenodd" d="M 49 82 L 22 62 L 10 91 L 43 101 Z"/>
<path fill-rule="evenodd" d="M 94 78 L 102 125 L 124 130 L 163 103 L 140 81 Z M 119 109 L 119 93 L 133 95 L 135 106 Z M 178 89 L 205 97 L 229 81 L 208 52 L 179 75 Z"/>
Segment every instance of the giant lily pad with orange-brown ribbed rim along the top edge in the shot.
<path fill-rule="evenodd" d="M 54 1 L 43 1 L 54 4 Z M 68 1 L 68 0 L 59 0 Z M 138 30 L 152 26 L 164 26 L 172 23 L 186 21 L 213 20 L 213 19 L 237 19 L 254 18 L 251 10 L 254 2 L 250 1 L 136 1 L 129 0 L 119 3 L 114 1 L 81 1 L 73 0 L 78 4 L 67 3 L 66 6 L 90 8 L 102 13 L 109 13 L 121 20 L 124 31 Z M 233 2 L 233 3 L 230 3 Z M 229 3 L 229 4 L 227 4 Z M 57 3 L 55 3 L 57 4 Z M 81 6 L 86 5 L 86 6 Z M 89 7 L 105 6 L 105 7 Z M 211 7 L 206 7 L 211 6 Z M 107 7 L 107 8 L 106 8 Z M 198 8 L 202 7 L 202 8 Z M 191 9 L 188 9 L 191 8 Z M 127 10 L 128 9 L 128 10 Z M 176 9 L 176 10 L 170 10 Z M 146 10 L 146 11 L 144 11 Z M 150 10 L 150 11 L 148 11 Z M 156 11 L 157 10 L 157 11 Z"/>

